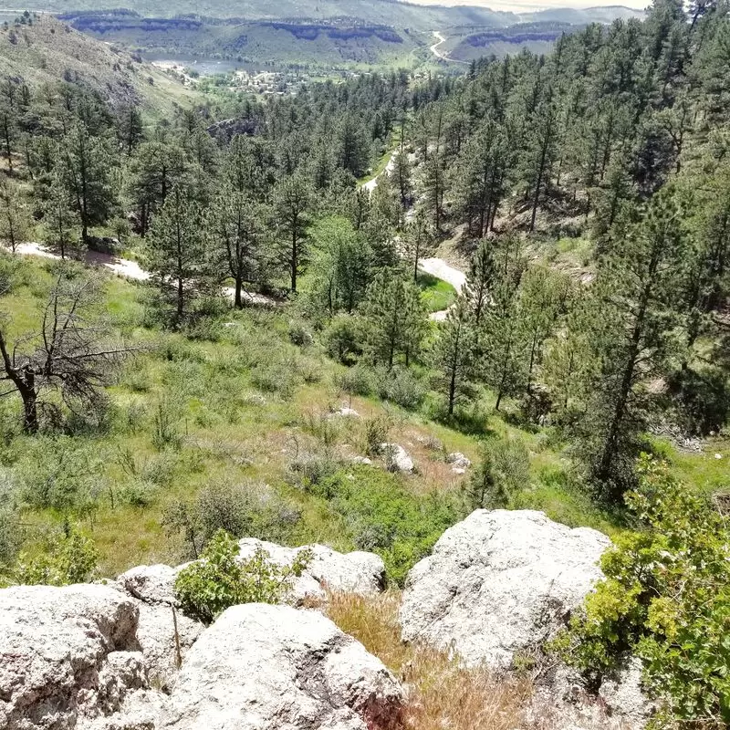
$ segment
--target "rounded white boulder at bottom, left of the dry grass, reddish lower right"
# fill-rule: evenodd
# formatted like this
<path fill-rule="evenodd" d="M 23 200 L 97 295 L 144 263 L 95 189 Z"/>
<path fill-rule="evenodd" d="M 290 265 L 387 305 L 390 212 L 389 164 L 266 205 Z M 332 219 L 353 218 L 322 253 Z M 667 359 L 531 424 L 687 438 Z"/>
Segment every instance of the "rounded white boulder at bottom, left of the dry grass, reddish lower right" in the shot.
<path fill-rule="evenodd" d="M 195 643 L 161 728 L 375 730 L 401 700 L 380 660 L 321 614 L 255 603 Z"/>

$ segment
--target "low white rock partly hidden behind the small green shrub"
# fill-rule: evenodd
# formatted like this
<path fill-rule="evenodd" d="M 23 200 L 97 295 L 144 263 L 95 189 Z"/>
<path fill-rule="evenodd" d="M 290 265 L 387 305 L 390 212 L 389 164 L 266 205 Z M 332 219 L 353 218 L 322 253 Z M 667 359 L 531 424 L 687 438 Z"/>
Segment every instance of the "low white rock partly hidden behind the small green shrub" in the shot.
<path fill-rule="evenodd" d="M 240 558 L 251 558 L 256 548 L 261 547 L 282 566 L 291 565 L 301 550 L 312 552 L 308 567 L 292 584 L 291 600 L 294 603 L 307 599 L 325 600 L 327 589 L 371 596 L 385 587 L 385 564 L 374 553 L 339 553 L 324 545 L 282 547 L 254 537 L 244 537 L 238 545 L 241 547 Z"/>

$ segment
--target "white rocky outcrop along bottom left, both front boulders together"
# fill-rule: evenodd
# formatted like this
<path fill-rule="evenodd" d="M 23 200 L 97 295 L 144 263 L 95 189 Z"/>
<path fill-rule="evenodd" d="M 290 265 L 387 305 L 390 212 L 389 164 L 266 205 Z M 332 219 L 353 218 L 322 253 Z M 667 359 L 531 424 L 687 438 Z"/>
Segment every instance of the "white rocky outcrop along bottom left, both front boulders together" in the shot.
<path fill-rule="evenodd" d="M 398 714 L 401 686 L 380 660 L 317 611 L 286 606 L 224 611 L 163 688 L 144 607 L 114 586 L 0 590 L 0 727 L 378 730 Z"/>

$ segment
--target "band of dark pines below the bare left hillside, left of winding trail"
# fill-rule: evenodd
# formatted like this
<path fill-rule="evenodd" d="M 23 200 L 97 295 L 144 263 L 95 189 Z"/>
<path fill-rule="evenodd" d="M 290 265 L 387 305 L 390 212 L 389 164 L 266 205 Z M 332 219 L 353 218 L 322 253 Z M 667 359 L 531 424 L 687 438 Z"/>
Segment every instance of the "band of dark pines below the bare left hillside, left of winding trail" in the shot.
<path fill-rule="evenodd" d="M 236 306 L 244 285 L 294 293 L 308 224 L 323 214 L 349 217 L 374 250 L 392 248 L 394 204 L 370 200 L 356 179 L 412 109 L 448 85 L 412 89 L 406 74 L 373 75 L 266 104 L 242 99 L 230 125 L 202 108 L 151 128 L 134 105 L 110 109 L 73 84 L 29 89 L 5 78 L 0 233 L 15 249 L 35 230 L 63 256 L 100 235 L 139 235 L 152 272 L 174 282 L 176 322 L 204 282 L 232 277 Z M 249 133 L 235 133 L 242 128 Z"/>

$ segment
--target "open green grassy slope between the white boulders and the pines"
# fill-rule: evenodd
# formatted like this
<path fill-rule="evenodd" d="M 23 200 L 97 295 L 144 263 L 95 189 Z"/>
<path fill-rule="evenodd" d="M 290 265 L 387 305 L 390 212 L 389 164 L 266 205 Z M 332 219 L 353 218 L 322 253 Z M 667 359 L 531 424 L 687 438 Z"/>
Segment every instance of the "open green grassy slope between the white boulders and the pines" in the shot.
<path fill-rule="evenodd" d="M 18 283 L 0 298 L 0 309 L 16 337 L 36 327 L 57 265 L 10 260 Z M 100 462 L 99 474 L 90 480 L 95 509 L 75 519 L 99 548 L 102 574 L 113 576 L 141 563 L 181 562 L 183 537 L 166 531 L 163 517 L 170 505 L 193 500 L 207 485 L 267 485 L 269 501 L 286 506 L 298 519 L 256 537 L 319 542 L 345 551 L 370 548 L 381 553 L 395 580 L 445 527 L 464 516 L 460 505 L 468 474 L 453 474 L 444 457 L 460 451 L 475 463 L 478 435 L 461 432 L 458 423 L 433 420 L 436 393 L 415 412 L 372 397 L 349 399 L 334 384 L 342 366 L 328 360 L 316 343 L 300 348 L 289 342 L 286 310 L 225 311 L 218 323 L 207 325 L 203 339 L 190 339 L 143 325 L 144 287 L 114 276 L 104 281 L 100 312 L 125 339 L 154 347 L 130 361 L 108 390 L 106 426 L 77 429 L 65 442 L 72 452 L 92 454 Z M 425 276 L 423 282 L 428 284 Z M 448 306 L 453 289 L 444 290 L 435 280 L 431 284 L 424 294 L 433 297 L 433 307 Z M 234 324 L 223 327 L 223 321 Z M 620 529 L 618 516 L 604 514 L 571 485 L 569 464 L 547 433 L 508 424 L 491 412 L 492 402 L 485 393 L 474 405 L 474 422 L 481 422 L 482 433 L 516 436 L 530 454 L 530 485 L 515 506 L 544 509 L 572 526 L 609 534 Z M 361 418 L 328 418 L 329 409 L 343 403 Z M 48 459 L 47 442 L 18 433 L 18 409 L 18 401 L 10 398 L 0 411 L 2 462 L 11 482 L 21 467 L 24 473 L 42 474 Z M 170 414 L 176 434 L 167 447 L 156 445 L 159 412 Z M 374 418 L 386 419 L 388 439 L 412 454 L 416 474 L 347 465 L 351 455 L 365 453 L 366 423 Z M 297 471 L 302 460 L 309 464 L 306 472 Z M 60 526 L 63 515 L 50 508 L 24 509 L 21 518 L 30 526 L 26 547 L 33 551 L 49 529 Z"/>

